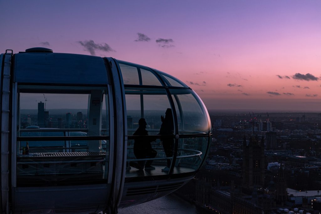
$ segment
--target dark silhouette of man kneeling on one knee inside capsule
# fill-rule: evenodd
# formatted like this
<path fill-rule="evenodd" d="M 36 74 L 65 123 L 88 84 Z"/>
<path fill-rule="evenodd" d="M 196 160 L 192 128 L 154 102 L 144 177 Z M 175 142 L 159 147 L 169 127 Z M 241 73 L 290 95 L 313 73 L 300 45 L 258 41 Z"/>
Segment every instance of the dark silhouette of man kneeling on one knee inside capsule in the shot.
<path fill-rule="evenodd" d="M 152 149 L 151 142 L 155 141 L 155 139 L 148 139 L 144 137 L 144 135 L 148 135 L 148 132 L 146 130 L 146 121 L 144 118 L 139 119 L 138 121 L 138 129 L 133 135 L 138 135 L 140 137 L 137 137 L 134 140 L 134 155 L 137 159 L 142 159 L 142 158 L 155 158 L 157 155 L 157 151 Z M 155 167 L 151 166 L 152 160 L 147 160 L 146 165 L 145 161 L 137 161 L 136 163 L 131 163 L 132 167 L 135 167 L 137 169 L 142 170 L 144 167 L 145 169 L 155 169 Z"/>

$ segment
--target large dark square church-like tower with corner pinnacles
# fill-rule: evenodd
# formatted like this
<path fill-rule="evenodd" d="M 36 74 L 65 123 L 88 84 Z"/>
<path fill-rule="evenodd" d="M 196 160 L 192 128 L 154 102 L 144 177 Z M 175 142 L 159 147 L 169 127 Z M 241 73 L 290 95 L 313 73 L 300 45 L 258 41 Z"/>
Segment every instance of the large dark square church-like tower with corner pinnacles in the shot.
<path fill-rule="evenodd" d="M 243 138 L 243 188 L 253 190 L 264 187 L 265 155 L 264 137 L 258 140 L 251 135 L 249 141 Z"/>

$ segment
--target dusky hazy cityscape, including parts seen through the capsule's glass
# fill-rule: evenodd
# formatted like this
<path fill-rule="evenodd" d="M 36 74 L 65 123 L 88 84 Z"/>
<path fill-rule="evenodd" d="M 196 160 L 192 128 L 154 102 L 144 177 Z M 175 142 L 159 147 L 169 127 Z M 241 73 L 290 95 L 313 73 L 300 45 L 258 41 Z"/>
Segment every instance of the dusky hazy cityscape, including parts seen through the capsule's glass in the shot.
<path fill-rule="evenodd" d="M 45 111 L 39 102 L 38 112 L 21 111 L 21 128 L 86 128 L 85 109 L 66 111 Z M 131 115 L 127 126 L 135 129 L 137 118 Z M 206 163 L 176 195 L 209 213 L 319 213 L 321 113 L 209 110 L 209 115 L 213 139 Z"/>

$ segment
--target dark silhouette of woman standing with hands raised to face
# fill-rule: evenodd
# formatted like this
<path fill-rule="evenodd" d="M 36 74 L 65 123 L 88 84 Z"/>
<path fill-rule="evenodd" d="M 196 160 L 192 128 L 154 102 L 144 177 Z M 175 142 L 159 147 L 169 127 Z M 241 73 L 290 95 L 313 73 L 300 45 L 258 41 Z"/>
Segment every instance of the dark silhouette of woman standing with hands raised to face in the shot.
<path fill-rule="evenodd" d="M 160 135 L 171 135 L 174 134 L 174 121 L 173 121 L 173 114 L 172 109 L 168 108 L 165 112 L 165 118 L 163 116 L 160 116 L 160 119 L 162 121 L 162 124 L 160 126 Z M 174 139 L 169 138 L 160 138 L 160 141 L 163 143 L 164 151 L 166 154 L 166 157 L 172 157 L 173 156 L 173 150 L 174 150 Z M 170 167 L 170 159 L 167 159 L 167 166 L 162 169 L 162 171 L 169 171 Z"/>

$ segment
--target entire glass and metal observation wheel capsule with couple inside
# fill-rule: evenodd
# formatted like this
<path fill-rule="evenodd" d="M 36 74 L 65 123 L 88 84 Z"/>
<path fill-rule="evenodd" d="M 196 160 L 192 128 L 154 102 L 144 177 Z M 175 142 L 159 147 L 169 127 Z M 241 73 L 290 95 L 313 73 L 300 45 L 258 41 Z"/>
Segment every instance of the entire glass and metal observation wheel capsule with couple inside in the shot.
<path fill-rule="evenodd" d="M 48 48 L 6 50 L 0 67 L 2 213 L 116 213 L 204 163 L 207 110 L 167 73 Z"/>

